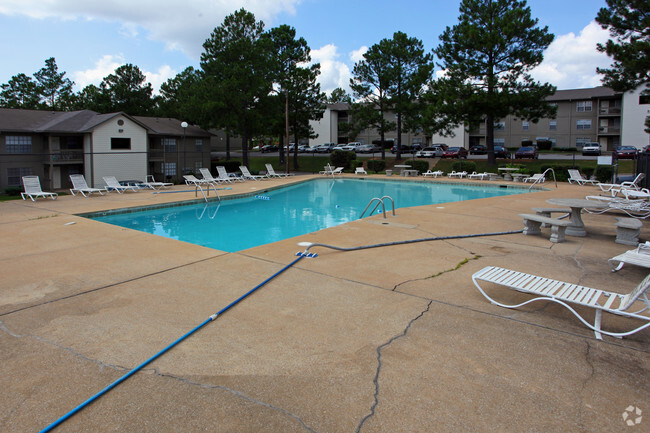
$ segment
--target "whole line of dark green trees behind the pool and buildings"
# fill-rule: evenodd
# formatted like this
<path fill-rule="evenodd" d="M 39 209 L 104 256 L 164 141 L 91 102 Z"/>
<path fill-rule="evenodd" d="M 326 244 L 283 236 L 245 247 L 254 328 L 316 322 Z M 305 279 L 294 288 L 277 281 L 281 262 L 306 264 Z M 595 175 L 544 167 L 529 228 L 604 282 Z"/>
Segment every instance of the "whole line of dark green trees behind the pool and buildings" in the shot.
<path fill-rule="evenodd" d="M 648 3 L 607 3 L 597 21 L 615 40 L 598 49 L 615 63 L 598 72 L 615 90 L 647 85 Z M 280 137 L 282 144 L 289 137 L 295 143 L 313 138 L 309 122 L 322 118 L 325 104 L 347 102 L 348 135 L 375 128 L 383 142 L 385 133 L 396 131 L 398 158 L 402 132 L 448 135 L 459 125 L 485 122 L 488 161 L 494 164 L 495 122 L 509 114 L 533 122 L 555 115 L 555 107 L 546 102 L 555 87 L 530 75 L 553 38 L 531 17 L 525 0 L 463 0 L 458 24 L 445 29 L 431 53 L 417 38 L 395 32 L 354 65 L 352 95 L 336 89 L 327 98 L 317 82 L 320 65 L 311 64 L 304 38 L 287 25 L 265 30 L 262 21 L 240 9 L 204 42 L 200 68 L 188 67 L 167 80 L 159 95 L 153 95 L 142 71 L 131 64 L 117 68 L 99 86 L 74 93 L 74 83 L 50 58 L 33 78 L 18 74 L 2 84 L 0 106 L 176 117 L 240 136 L 247 164 L 251 139 Z M 440 77 L 434 76 L 436 66 L 443 72 Z M 395 114 L 395 120 L 387 113 Z"/>

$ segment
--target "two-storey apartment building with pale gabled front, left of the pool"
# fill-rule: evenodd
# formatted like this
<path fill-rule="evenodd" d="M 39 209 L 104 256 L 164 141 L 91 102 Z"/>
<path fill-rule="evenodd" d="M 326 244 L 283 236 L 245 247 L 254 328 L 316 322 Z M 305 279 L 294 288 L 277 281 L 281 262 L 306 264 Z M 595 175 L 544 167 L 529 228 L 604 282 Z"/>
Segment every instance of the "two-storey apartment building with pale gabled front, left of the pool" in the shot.
<path fill-rule="evenodd" d="M 37 175 L 43 188 L 70 188 L 83 174 L 102 187 L 119 180 L 176 180 L 210 163 L 211 134 L 177 119 L 90 110 L 0 109 L 0 192 Z"/>

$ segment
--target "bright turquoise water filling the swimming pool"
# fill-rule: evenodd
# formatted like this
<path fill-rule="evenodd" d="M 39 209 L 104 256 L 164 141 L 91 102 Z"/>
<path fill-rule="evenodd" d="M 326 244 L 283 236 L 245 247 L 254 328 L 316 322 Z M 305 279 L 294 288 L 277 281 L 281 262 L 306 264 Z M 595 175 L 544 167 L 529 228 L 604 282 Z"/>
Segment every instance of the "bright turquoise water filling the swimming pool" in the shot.
<path fill-rule="evenodd" d="M 263 188 L 261 183 L 255 185 Z M 374 197 L 388 195 L 400 208 L 527 192 L 498 186 L 370 179 L 317 179 L 261 191 L 254 197 L 114 213 L 93 219 L 235 252 L 358 219 Z M 387 212 L 389 209 L 387 201 Z"/>

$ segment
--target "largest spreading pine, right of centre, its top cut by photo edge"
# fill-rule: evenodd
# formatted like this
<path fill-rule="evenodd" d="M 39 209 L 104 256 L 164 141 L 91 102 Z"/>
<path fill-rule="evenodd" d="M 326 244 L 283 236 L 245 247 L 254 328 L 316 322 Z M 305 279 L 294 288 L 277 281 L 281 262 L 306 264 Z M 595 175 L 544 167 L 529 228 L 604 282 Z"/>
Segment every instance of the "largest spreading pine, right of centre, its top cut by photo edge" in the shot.
<path fill-rule="evenodd" d="M 525 0 L 462 0 L 459 23 L 446 28 L 434 50 L 445 75 L 429 86 L 428 121 L 445 129 L 485 120 L 490 165 L 496 162 L 496 120 L 515 114 L 536 122 L 555 115 L 546 102 L 555 87 L 529 74 L 554 37 L 537 22 Z"/>

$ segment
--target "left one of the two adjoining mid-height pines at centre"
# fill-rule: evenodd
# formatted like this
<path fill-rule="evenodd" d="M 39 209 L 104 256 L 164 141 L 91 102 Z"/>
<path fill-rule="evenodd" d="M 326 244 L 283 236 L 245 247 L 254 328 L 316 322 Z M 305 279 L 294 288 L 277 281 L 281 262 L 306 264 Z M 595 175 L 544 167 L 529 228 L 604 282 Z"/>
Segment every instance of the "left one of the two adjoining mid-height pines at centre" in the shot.
<path fill-rule="evenodd" d="M 392 108 L 390 89 L 393 83 L 393 70 L 389 68 L 390 44 L 383 39 L 363 54 L 352 69 L 350 88 L 356 102 L 352 104 L 352 135 L 362 128 L 374 127 L 382 142 L 381 158 L 386 158 L 383 143 L 386 132 L 395 129 L 395 123 L 386 118 Z M 397 155 L 399 158 L 399 155 Z"/>

